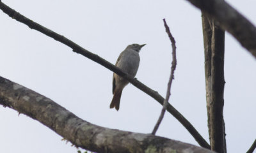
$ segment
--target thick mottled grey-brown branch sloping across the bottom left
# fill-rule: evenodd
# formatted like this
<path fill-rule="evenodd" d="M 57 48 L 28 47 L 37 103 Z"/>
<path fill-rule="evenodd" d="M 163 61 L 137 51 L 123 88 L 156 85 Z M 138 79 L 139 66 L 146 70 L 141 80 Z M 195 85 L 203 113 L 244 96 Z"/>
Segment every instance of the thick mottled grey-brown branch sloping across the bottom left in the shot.
<path fill-rule="evenodd" d="M 96 126 L 51 99 L 3 77 L 0 77 L 0 104 L 38 120 L 76 147 L 93 152 L 212 152 L 160 136 Z"/>

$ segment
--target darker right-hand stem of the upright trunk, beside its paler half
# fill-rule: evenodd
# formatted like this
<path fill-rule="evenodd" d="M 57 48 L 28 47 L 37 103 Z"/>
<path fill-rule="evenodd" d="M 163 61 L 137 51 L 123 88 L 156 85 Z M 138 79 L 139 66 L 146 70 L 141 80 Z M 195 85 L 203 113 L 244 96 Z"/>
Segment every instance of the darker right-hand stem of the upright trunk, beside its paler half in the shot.
<path fill-rule="evenodd" d="M 212 21 L 212 59 L 211 59 L 211 148 L 225 153 L 224 106 L 224 48 L 225 31 Z"/>

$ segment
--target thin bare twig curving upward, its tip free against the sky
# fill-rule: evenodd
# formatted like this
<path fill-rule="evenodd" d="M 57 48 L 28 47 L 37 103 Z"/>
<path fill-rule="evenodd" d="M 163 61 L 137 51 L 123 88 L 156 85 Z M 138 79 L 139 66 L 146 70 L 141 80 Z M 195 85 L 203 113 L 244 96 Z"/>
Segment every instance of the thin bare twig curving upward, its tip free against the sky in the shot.
<path fill-rule="evenodd" d="M 167 91 L 166 91 L 166 98 L 164 99 L 164 104 L 163 104 L 163 108 L 161 110 L 161 114 L 159 116 L 159 119 L 157 120 L 156 126 L 154 127 L 153 131 L 152 131 L 152 135 L 156 135 L 156 131 L 159 128 L 163 118 L 164 118 L 164 113 L 166 110 L 166 105 L 169 103 L 169 98 L 171 95 L 171 87 L 172 87 L 172 80 L 174 79 L 174 71 L 176 69 L 176 65 L 177 65 L 177 59 L 176 59 L 176 46 L 175 46 L 175 40 L 172 36 L 172 33 L 170 32 L 170 29 L 168 27 L 168 25 L 165 22 L 165 18 L 163 19 L 164 21 L 164 27 L 166 30 L 166 33 L 168 34 L 171 42 L 172 42 L 172 68 L 171 68 L 171 74 L 170 74 L 170 78 L 169 78 L 169 82 L 167 85 Z"/>

